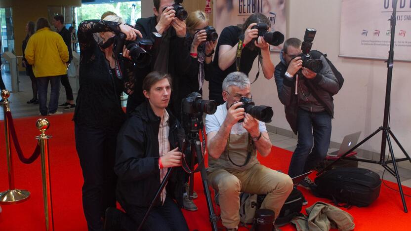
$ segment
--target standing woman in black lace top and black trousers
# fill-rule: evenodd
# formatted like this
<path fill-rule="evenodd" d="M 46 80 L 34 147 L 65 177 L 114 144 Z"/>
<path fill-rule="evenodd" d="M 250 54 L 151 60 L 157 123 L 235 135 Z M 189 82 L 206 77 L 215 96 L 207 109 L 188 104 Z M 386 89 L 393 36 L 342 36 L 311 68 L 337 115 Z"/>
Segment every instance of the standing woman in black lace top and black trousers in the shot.
<path fill-rule="evenodd" d="M 120 32 L 127 40 L 141 37 L 139 31 L 125 25 L 116 15 L 82 21 L 77 34 L 81 51 L 80 89 L 73 120 L 84 178 L 83 211 L 89 231 L 102 231 L 106 208 L 116 206 L 116 139 L 126 119 L 120 97 L 122 91 L 132 93 L 127 87 L 132 87 L 130 76 L 133 77 L 128 62 L 118 62 L 123 59 L 113 52 L 113 38 Z"/>

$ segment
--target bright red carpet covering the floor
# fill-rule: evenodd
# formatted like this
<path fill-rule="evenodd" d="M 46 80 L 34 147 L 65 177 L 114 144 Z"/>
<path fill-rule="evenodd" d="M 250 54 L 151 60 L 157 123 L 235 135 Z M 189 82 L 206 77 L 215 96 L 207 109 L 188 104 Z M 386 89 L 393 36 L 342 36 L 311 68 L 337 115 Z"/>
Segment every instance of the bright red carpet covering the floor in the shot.
<path fill-rule="evenodd" d="M 74 124 L 72 114 L 49 116 L 50 128 L 46 132 L 52 135 L 49 140 L 51 187 L 54 212 L 54 228 L 56 231 L 86 231 L 86 223 L 82 212 L 82 172 L 77 157 L 74 142 Z M 26 157 L 32 154 L 36 139 L 40 132 L 36 128 L 37 117 L 15 119 L 16 130 Z M 4 148 L 4 126 L 0 123 L 0 191 L 8 189 L 7 167 Z M 15 185 L 17 189 L 31 192 L 31 198 L 15 205 L 1 205 L 0 231 L 42 231 L 45 230 L 44 210 L 41 188 L 40 158 L 32 164 L 23 164 L 17 158 L 14 147 L 12 150 Z M 273 169 L 287 172 L 291 152 L 273 147 L 272 154 L 260 158 L 261 163 Z M 386 173 L 388 174 L 388 173 Z M 313 175 L 314 177 L 314 175 Z M 397 185 L 387 184 L 393 188 Z M 200 175 L 196 175 L 195 186 L 199 198 L 195 203 L 197 212 L 184 211 L 190 230 L 208 231 L 208 211 Z M 403 187 L 404 192 L 411 194 L 411 189 Z M 308 206 L 316 201 L 329 202 L 327 199 L 314 197 L 302 189 L 308 200 Z M 411 210 L 411 199 L 406 197 Z M 305 213 L 305 207 L 303 213 Z M 218 208 L 215 208 L 218 210 Z M 355 230 L 359 231 L 399 231 L 409 230 L 411 215 L 403 212 L 401 198 L 398 192 L 381 186 L 379 198 L 369 207 L 352 207 L 348 210 L 354 217 Z M 283 231 L 295 230 L 291 225 L 281 228 Z M 240 230 L 246 230 L 241 228 Z"/>

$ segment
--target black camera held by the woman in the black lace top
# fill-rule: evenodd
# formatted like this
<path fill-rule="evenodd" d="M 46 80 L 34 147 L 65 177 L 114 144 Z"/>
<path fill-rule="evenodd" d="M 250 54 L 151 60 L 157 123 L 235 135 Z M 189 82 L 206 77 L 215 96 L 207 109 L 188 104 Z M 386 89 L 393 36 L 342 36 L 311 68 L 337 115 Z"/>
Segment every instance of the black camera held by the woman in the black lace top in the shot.
<path fill-rule="evenodd" d="M 151 62 L 151 55 L 147 52 L 153 47 L 151 39 L 138 38 L 135 41 L 125 40 L 126 36 L 123 33 L 117 35 L 113 50 L 115 54 L 123 53 L 123 45 L 130 51 L 131 61 L 137 67 L 145 67 Z"/>

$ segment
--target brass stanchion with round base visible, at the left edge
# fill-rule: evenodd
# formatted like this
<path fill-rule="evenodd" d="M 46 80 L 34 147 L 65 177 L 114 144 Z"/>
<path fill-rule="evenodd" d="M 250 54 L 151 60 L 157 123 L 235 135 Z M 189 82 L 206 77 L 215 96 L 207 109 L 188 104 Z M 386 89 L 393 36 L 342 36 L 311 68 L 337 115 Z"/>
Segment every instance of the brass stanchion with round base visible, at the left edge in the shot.
<path fill-rule="evenodd" d="M 30 192 L 27 190 L 18 190 L 14 187 L 14 174 L 13 165 L 10 152 L 10 128 L 6 116 L 6 112 L 10 112 L 8 97 L 10 92 L 8 90 L 1 90 L 1 98 L 4 100 L 1 104 L 3 105 L 4 113 L 4 138 L 7 156 L 7 173 L 8 173 L 8 188 L 9 190 L 0 192 L 0 204 L 15 204 L 27 200 L 30 196 Z"/>

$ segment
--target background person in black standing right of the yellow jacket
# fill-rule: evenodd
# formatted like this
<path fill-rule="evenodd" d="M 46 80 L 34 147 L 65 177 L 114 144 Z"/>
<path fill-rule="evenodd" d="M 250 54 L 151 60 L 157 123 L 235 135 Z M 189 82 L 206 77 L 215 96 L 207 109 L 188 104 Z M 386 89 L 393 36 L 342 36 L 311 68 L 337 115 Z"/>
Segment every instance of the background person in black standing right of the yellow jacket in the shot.
<path fill-rule="evenodd" d="M 69 51 L 69 61 L 67 62 L 67 65 L 70 64 L 71 60 L 73 59 L 73 53 L 71 50 L 71 35 L 70 32 L 66 29 L 64 26 L 64 16 L 63 15 L 54 15 L 53 17 L 53 25 L 57 29 L 58 34 L 61 35 L 63 38 L 64 42 L 66 43 L 67 49 Z M 63 104 L 60 104 L 59 107 L 64 107 L 64 111 L 74 109 L 76 105 L 74 104 L 74 97 L 73 97 L 73 90 L 71 89 L 70 86 L 70 81 L 69 77 L 66 75 L 63 75 L 61 78 L 61 84 L 63 84 L 64 89 L 66 90 L 66 102 Z"/>

